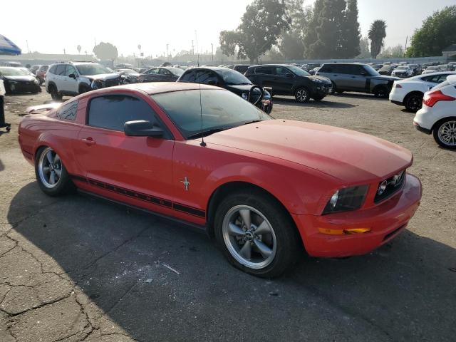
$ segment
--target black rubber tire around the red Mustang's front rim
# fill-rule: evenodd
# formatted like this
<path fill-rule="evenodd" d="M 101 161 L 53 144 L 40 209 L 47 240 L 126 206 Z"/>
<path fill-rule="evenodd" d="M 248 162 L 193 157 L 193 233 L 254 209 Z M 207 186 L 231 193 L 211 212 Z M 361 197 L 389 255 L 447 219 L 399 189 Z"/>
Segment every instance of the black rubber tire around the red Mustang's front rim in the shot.
<path fill-rule="evenodd" d="M 255 241 L 244 240 L 247 239 L 247 237 L 245 236 L 242 237 L 242 239 L 238 239 L 238 237 L 233 237 L 231 236 L 231 234 L 228 234 L 226 230 L 224 231 L 224 227 L 227 227 L 226 222 L 229 222 L 229 215 L 232 212 L 232 210 L 243 206 L 252 207 L 259 213 L 261 213 L 263 217 L 265 217 L 264 221 L 267 221 L 267 223 L 270 224 L 269 227 L 271 227 L 271 230 L 274 234 L 274 244 L 276 246 L 274 252 L 275 254 L 273 255 L 273 257 L 271 257 L 269 264 L 265 264 L 260 268 L 254 268 L 252 266 L 248 266 L 246 264 L 242 264 L 242 262 L 239 262 L 239 260 L 237 260 L 236 257 L 234 257 L 236 252 L 233 252 L 232 249 L 234 244 L 237 243 L 240 243 L 240 246 L 244 246 L 245 244 L 251 244 L 252 255 L 251 259 L 249 260 L 254 260 L 252 259 L 254 256 L 257 256 L 259 257 L 259 259 L 261 259 L 264 256 L 262 253 L 260 254 L 259 249 L 256 249 L 256 244 L 254 244 Z M 255 221 L 254 215 L 257 214 L 255 212 L 251 213 L 251 222 L 253 223 Z M 232 215 L 235 217 L 236 212 Z M 240 219 L 241 216 L 238 215 L 237 217 L 239 217 Z M 257 215 L 256 218 L 261 221 L 261 216 Z M 258 229 L 258 227 L 259 225 L 256 229 Z M 253 230 L 252 232 L 255 232 L 255 230 Z M 228 259 L 230 264 L 248 274 L 260 276 L 263 278 L 274 278 L 276 276 L 280 276 L 284 273 L 284 271 L 293 266 L 296 261 L 296 255 L 298 254 L 297 252 L 300 245 L 299 234 L 289 214 L 286 212 L 285 209 L 283 209 L 283 207 L 281 207 L 281 204 L 279 204 L 276 201 L 276 199 L 259 190 L 246 190 L 234 192 L 225 197 L 216 209 L 214 217 L 214 234 L 220 249 L 222 249 L 224 256 Z M 268 240 L 268 236 L 270 237 L 270 240 Z M 265 243 L 268 241 L 272 241 L 271 234 L 259 235 L 259 237 L 255 235 L 254 239 L 261 239 L 261 241 L 264 241 Z M 234 241 L 234 244 L 232 243 L 232 241 Z M 243 245 L 242 242 L 244 241 L 245 243 Z M 241 254 L 242 249 L 242 247 L 240 246 L 238 246 L 238 258 Z M 232 252 L 230 252 L 230 248 Z"/>

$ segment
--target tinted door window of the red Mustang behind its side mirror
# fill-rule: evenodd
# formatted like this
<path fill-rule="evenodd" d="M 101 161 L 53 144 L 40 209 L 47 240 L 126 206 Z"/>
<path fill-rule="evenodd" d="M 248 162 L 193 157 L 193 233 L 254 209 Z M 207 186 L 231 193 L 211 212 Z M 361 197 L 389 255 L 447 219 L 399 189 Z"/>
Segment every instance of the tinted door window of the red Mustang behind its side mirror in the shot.
<path fill-rule="evenodd" d="M 88 125 L 123 132 L 127 121 L 158 124 L 155 112 L 143 100 L 128 95 L 105 95 L 90 100 Z"/>

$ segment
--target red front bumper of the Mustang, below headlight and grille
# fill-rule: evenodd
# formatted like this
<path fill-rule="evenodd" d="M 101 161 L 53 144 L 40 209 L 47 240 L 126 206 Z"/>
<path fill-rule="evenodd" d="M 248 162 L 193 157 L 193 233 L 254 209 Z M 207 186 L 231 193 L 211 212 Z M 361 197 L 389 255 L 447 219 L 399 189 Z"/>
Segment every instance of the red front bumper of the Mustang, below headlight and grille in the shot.
<path fill-rule="evenodd" d="M 404 187 L 375 207 L 328 215 L 292 214 L 312 257 L 349 257 L 372 252 L 398 236 L 420 205 L 420 180 L 407 175 Z M 319 229 L 369 228 L 362 234 L 328 235 Z"/>

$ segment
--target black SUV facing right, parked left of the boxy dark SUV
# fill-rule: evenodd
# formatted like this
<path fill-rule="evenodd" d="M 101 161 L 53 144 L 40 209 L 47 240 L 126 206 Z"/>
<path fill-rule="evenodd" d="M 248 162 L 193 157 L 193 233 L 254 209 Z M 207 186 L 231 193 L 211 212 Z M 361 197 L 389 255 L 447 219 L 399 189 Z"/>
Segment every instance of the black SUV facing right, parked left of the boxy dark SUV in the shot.
<path fill-rule="evenodd" d="M 244 76 L 261 87 L 271 87 L 274 95 L 294 95 L 296 101 L 301 103 L 308 102 L 311 98 L 322 100 L 332 91 L 328 78 L 311 76 L 297 66 L 251 66 Z"/>

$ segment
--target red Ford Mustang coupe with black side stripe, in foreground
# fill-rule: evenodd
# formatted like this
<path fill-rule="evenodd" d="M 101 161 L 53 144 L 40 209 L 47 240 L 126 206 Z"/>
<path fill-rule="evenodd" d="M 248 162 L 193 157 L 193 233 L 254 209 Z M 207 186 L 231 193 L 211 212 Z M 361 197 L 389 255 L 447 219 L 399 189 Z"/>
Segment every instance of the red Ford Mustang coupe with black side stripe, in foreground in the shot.
<path fill-rule="evenodd" d="M 273 120 L 192 83 L 84 93 L 24 117 L 19 142 L 46 194 L 76 186 L 204 227 L 257 276 L 278 276 L 303 246 L 314 257 L 371 252 L 405 228 L 422 192 L 398 145 Z"/>

